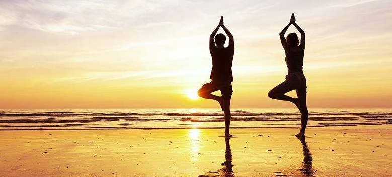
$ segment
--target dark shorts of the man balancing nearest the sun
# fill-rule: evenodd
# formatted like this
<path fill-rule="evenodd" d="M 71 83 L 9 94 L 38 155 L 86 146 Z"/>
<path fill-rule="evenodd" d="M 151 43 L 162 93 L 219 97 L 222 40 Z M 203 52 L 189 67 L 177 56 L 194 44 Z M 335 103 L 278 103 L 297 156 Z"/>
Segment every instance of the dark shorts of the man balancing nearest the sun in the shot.
<path fill-rule="evenodd" d="M 231 95 L 233 94 L 231 82 L 224 82 L 224 83 L 209 82 L 207 84 L 204 84 L 199 89 L 199 92 L 212 93 L 218 90 L 220 90 L 223 99 L 230 99 Z"/>

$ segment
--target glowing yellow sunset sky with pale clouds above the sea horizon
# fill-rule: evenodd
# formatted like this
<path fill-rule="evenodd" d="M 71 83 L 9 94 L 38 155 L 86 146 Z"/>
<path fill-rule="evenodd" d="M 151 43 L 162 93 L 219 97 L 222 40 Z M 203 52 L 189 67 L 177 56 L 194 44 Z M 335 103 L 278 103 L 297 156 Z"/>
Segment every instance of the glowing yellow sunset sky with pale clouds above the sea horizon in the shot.
<path fill-rule="evenodd" d="M 392 107 L 391 1 L 4 0 L 0 12 L 0 108 L 218 108 L 191 98 L 210 81 L 220 16 L 236 43 L 231 107 L 294 108 L 267 96 L 287 73 L 291 13 L 309 108 Z"/>

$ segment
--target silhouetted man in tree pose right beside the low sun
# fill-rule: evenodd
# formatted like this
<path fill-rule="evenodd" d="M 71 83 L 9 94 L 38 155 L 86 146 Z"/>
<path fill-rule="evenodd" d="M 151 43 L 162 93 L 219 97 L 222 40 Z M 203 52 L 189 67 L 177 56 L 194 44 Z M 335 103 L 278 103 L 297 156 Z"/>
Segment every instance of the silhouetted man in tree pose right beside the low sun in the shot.
<path fill-rule="evenodd" d="M 217 34 L 215 36 L 220 27 L 223 28 L 229 38 L 227 48 L 224 48 L 223 46 L 226 41 L 226 36 L 223 34 Z M 202 98 L 213 99 L 219 102 L 220 108 L 222 108 L 222 111 L 224 112 L 224 123 L 226 128 L 224 135 L 226 137 L 231 137 L 232 135 L 229 134 L 229 127 L 231 120 L 230 99 L 233 92 L 231 87 L 231 82 L 233 81 L 231 65 L 234 55 L 234 38 L 230 31 L 223 25 L 223 16 L 220 18 L 219 25 L 210 35 L 210 53 L 212 57 L 211 82 L 204 84 L 203 87 L 199 89 L 198 95 Z M 222 96 L 211 94 L 217 90 L 220 90 Z"/>

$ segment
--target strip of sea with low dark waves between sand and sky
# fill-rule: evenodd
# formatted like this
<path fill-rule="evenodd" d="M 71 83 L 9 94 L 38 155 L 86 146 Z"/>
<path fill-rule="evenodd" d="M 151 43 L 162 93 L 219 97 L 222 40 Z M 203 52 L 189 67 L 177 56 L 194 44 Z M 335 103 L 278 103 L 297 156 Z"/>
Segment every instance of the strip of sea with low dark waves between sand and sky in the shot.
<path fill-rule="evenodd" d="M 390 128 L 392 109 L 309 109 L 308 127 Z M 219 109 L 0 109 L 0 130 L 223 128 Z M 300 127 L 296 109 L 232 109 L 232 128 Z"/>

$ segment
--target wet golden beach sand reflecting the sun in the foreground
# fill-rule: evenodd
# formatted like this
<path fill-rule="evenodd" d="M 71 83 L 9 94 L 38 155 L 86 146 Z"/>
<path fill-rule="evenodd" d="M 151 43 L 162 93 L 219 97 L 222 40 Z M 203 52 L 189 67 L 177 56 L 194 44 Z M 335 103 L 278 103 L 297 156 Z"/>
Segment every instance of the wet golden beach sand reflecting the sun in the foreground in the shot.
<path fill-rule="evenodd" d="M 0 131 L 0 176 L 392 176 L 391 130 L 297 131 Z"/>

